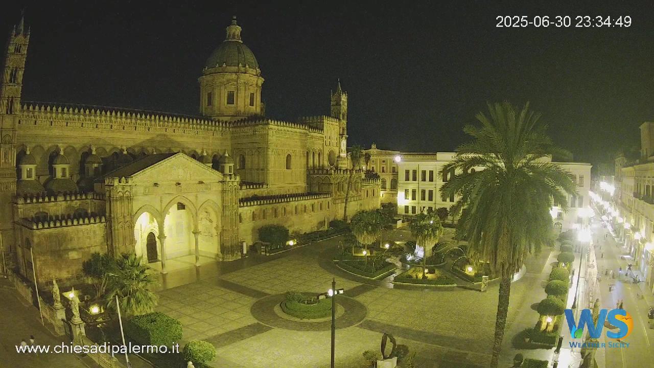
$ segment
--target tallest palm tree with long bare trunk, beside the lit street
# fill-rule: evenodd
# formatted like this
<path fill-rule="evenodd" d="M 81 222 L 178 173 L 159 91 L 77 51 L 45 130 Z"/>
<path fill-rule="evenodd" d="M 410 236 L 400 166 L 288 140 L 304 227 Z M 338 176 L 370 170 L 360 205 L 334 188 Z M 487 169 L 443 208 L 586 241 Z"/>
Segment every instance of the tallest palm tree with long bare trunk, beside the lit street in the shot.
<path fill-rule="evenodd" d="M 528 103 L 520 111 L 508 102 L 489 104 L 489 116 L 477 114 L 481 127 L 464 128 L 474 140 L 460 145 L 442 171 L 460 173 L 441 188 L 443 200 L 459 197 L 451 212 L 463 209 L 457 237 L 467 238 L 473 261 L 489 263 L 500 277 L 492 368 L 498 366 L 513 274 L 527 253 L 549 246 L 549 210 L 557 204 L 566 211 L 566 194 L 575 193 L 570 173 L 549 162 L 549 155 L 562 150 L 539 118 Z"/>

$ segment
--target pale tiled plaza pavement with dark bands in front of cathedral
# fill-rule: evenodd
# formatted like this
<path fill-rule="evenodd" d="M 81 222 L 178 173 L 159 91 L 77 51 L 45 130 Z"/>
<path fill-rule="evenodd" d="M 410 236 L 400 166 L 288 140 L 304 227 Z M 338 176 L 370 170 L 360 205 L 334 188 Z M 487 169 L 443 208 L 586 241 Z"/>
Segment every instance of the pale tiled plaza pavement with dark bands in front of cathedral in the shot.
<path fill-rule="evenodd" d="M 324 323 L 303 323 L 308 327 L 298 331 L 272 308 L 257 306 L 289 290 L 324 292 L 336 278 L 337 287 L 346 290 L 343 298 L 353 299 L 357 313 L 362 311 L 360 322 L 337 328 L 338 367 L 365 367 L 362 352 L 378 351 L 384 332 L 416 351 L 422 368 L 487 366 L 496 282 L 487 293 L 473 285 L 392 287 L 387 280 L 366 280 L 337 268 L 330 259 L 337 243 L 335 238 L 283 255 L 251 255 L 241 267 L 226 270 L 207 265 L 197 272 L 170 272 L 163 276 L 164 287 L 169 287 L 158 291 L 157 310 L 181 320 L 184 341 L 203 339 L 216 346 L 213 367 L 328 367 L 330 331 Z M 521 318 L 519 309 L 532 301 L 532 279 L 513 283 L 508 327 Z M 346 308 L 345 314 L 349 312 Z M 537 316 L 531 317 L 529 323 Z M 507 334 L 505 340 L 510 338 Z M 507 364 L 513 358 L 508 353 L 502 359 Z"/>

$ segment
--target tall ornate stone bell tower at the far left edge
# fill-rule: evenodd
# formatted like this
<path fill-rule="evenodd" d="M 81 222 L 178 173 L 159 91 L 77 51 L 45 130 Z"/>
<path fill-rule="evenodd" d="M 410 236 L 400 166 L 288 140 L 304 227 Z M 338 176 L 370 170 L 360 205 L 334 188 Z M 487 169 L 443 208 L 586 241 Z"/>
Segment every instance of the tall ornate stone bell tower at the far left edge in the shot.
<path fill-rule="evenodd" d="M 10 203 L 16 194 L 16 128 L 20 119 L 20 94 L 29 44 L 24 16 L 9 32 L 0 75 L 0 251 L 11 250 L 13 241 Z"/>

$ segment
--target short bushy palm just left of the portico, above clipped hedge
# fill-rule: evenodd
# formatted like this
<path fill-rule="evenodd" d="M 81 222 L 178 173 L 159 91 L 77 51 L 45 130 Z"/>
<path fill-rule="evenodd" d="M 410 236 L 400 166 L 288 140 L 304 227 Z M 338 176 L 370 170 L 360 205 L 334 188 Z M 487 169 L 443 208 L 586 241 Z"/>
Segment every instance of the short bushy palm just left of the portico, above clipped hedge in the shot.
<path fill-rule="evenodd" d="M 116 295 L 120 301 L 120 312 L 127 316 L 138 316 L 152 312 L 158 297 L 150 291 L 156 282 L 150 267 L 142 263 L 142 257 L 123 254 L 116 259 L 116 268 L 111 274 L 109 306 L 116 308 Z"/>

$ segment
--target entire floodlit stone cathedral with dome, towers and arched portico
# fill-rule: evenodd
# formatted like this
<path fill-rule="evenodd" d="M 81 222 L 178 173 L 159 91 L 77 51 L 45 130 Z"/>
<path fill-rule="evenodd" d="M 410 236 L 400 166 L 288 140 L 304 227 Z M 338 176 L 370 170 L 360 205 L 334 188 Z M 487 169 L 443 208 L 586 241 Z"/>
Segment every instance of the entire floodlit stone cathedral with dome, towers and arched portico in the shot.
<path fill-rule="evenodd" d="M 4 267 L 43 284 L 79 278 L 94 252 L 135 253 L 165 273 L 176 257 L 239 259 L 265 225 L 302 234 L 343 218 L 347 93 L 339 83 L 328 116 L 266 117 L 235 19 L 198 63 L 197 116 L 24 101 L 29 37 L 20 20 L 0 81 Z M 379 208 L 379 179 L 353 178 L 348 215 Z"/>

